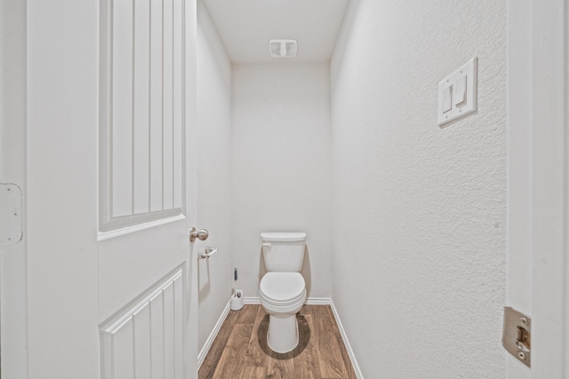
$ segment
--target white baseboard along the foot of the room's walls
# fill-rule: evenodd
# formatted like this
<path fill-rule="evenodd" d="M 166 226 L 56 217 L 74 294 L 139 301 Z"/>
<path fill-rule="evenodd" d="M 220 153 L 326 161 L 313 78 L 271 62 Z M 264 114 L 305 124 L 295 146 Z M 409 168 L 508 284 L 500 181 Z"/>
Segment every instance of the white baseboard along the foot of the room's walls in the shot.
<path fill-rule="evenodd" d="M 260 304 L 259 297 L 250 296 L 243 298 L 244 304 Z M 362 371 L 360 370 L 359 366 L 357 365 L 356 356 L 354 355 L 354 351 L 352 350 L 351 345 L 349 344 L 348 336 L 346 335 L 346 331 L 344 327 L 341 325 L 340 316 L 336 311 L 336 307 L 334 306 L 334 302 L 330 297 L 309 297 L 306 299 L 307 305 L 330 305 L 332 308 L 334 319 L 336 319 L 336 324 L 338 324 L 338 329 L 340 329 L 341 339 L 344 341 L 344 345 L 346 346 L 346 351 L 348 351 L 349 360 L 352 362 L 352 367 L 354 367 L 354 371 L 356 372 L 357 379 L 364 379 L 364 375 L 362 375 Z M 217 320 L 215 324 L 215 328 L 213 328 L 212 333 L 210 336 L 207 337 L 207 340 L 204 343 L 204 347 L 199 354 L 197 355 L 197 367 L 202 367 L 202 363 L 204 363 L 205 356 L 210 351 L 212 347 L 212 343 L 215 340 L 215 337 L 220 332 L 221 325 L 223 325 L 223 321 L 225 321 L 226 317 L 228 316 L 229 309 L 231 308 L 231 300 L 229 299 L 228 304 L 225 306 L 225 309 L 220 315 L 220 319 Z"/>

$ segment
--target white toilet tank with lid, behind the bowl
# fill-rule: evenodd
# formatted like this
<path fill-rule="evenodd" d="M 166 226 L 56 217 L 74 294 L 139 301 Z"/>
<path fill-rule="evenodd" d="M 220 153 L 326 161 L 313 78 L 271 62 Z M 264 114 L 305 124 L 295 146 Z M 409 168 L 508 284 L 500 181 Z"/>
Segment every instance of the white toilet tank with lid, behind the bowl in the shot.
<path fill-rule="evenodd" d="M 301 272 L 306 233 L 260 233 L 268 272 Z"/>

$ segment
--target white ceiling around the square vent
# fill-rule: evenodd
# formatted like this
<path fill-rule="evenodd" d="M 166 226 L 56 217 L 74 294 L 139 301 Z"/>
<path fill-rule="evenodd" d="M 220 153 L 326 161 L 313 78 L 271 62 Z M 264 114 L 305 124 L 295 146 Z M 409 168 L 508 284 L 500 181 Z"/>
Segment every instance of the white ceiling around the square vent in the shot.
<path fill-rule="evenodd" d="M 204 0 L 233 63 L 322 62 L 332 57 L 348 0 Z M 296 58 L 272 58 L 271 39 L 298 40 Z"/>

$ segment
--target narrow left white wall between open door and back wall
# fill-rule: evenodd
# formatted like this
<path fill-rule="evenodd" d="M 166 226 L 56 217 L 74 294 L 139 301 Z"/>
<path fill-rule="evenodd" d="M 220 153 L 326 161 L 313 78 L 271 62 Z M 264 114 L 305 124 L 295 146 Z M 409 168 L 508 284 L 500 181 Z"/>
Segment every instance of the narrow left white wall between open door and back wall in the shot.
<path fill-rule="evenodd" d="M 210 232 L 200 249 L 219 249 L 198 262 L 198 348 L 231 296 L 231 64 L 202 1 L 197 9 L 197 228 Z"/>

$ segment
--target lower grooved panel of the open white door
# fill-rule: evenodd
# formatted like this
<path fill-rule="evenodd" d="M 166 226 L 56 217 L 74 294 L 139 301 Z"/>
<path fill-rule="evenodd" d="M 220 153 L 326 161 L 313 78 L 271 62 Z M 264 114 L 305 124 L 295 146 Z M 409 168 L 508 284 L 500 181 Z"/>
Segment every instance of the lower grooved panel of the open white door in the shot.
<path fill-rule="evenodd" d="M 100 327 L 103 379 L 183 378 L 183 271 L 166 275 Z"/>

